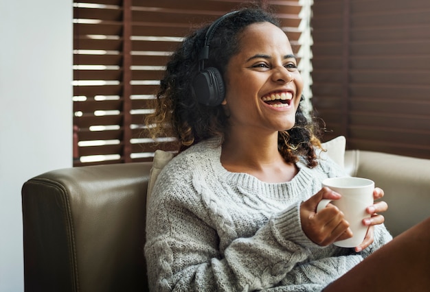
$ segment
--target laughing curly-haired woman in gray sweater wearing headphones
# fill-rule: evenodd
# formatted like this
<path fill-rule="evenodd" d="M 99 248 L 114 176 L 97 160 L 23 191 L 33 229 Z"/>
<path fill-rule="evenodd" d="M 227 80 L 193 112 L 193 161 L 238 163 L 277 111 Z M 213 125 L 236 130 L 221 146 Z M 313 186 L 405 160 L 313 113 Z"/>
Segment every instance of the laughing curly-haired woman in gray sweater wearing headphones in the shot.
<path fill-rule="evenodd" d="M 359 276 L 377 278 L 376 260 L 365 262 L 392 239 L 379 215 L 387 204 L 367 208 L 361 245 L 332 245 L 352 232 L 335 206 L 316 213 L 340 197 L 321 182 L 346 174 L 320 158 L 302 88 L 288 38 L 259 9 L 223 16 L 174 53 L 148 121 L 154 136 L 171 125 L 181 143 L 148 208 L 153 291 L 352 291 Z"/>

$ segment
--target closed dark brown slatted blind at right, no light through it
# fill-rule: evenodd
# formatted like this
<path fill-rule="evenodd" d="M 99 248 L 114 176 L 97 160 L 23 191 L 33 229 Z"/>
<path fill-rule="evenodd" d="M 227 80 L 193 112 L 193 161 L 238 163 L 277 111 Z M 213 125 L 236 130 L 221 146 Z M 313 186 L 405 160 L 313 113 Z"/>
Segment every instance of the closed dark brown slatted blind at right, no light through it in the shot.
<path fill-rule="evenodd" d="M 313 99 L 349 149 L 430 158 L 430 2 L 313 5 Z"/>

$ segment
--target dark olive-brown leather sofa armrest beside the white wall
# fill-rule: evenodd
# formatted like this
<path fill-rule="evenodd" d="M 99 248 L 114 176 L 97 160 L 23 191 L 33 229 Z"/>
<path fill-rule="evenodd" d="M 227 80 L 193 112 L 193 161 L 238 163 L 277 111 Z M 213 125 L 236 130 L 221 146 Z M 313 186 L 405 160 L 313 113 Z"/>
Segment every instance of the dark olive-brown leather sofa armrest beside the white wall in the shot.
<path fill-rule="evenodd" d="M 25 182 L 25 291 L 145 291 L 151 165 L 60 169 Z"/>

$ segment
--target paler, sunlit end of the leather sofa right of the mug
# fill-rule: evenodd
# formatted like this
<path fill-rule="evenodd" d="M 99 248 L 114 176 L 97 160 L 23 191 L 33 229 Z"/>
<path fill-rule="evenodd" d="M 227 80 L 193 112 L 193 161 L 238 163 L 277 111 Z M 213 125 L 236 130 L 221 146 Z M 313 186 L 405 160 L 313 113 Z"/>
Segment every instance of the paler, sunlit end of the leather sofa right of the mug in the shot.
<path fill-rule="evenodd" d="M 347 150 L 345 168 L 384 190 L 385 225 L 394 236 L 430 216 L 430 160 Z"/>

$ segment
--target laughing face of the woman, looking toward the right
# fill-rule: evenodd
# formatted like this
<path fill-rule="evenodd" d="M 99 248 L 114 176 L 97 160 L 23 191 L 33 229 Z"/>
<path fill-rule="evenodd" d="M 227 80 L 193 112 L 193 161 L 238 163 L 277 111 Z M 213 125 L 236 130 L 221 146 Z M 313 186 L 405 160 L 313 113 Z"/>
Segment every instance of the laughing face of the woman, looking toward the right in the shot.
<path fill-rule="evenodd" d="M 239 41 L 224 76 L 230 130 L 291 129 L 303 80 L 286 34 L 271 23 L 254 23 Z"/>

